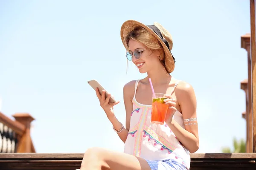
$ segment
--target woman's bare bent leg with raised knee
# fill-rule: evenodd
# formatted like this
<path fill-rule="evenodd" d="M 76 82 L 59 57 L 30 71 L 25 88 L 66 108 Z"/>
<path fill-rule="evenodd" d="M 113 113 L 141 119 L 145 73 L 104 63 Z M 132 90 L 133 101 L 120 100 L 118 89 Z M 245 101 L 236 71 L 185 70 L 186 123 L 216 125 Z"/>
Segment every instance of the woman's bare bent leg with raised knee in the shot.
<path fill-rule="evenodd" d="M 151 170 L 145 159 L 99 147 L 84 153 L 81 170 Z"/>

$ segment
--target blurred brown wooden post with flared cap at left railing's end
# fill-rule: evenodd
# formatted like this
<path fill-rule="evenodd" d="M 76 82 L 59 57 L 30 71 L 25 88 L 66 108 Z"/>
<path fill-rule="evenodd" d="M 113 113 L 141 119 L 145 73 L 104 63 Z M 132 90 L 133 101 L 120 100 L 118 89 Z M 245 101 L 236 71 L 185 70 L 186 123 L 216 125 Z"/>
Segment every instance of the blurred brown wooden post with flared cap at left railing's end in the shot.
<path fill-rule="evenodd" d="M 25 132 L 20 136 L 20 139 L 18 139 L 17 153 L 35 152 L 35 148 L 30 137 L 30 124 L 35 119 L 28 113 L 15 113 L 12 116 L 17 122 L 20 122 L 26 127 Z"/>

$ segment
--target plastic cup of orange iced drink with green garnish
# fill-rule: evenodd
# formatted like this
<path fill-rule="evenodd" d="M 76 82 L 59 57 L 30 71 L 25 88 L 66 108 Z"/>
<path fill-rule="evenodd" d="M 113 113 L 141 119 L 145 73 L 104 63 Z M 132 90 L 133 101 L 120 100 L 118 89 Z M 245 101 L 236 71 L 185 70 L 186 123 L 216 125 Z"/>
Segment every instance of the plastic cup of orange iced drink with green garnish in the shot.
<path fill-rule="evenodd" d="M 167 99 L 165 94 L 155 93 L 152 99 L 151 123 L 163 125 L 168 110 L 163 100 Z"/>

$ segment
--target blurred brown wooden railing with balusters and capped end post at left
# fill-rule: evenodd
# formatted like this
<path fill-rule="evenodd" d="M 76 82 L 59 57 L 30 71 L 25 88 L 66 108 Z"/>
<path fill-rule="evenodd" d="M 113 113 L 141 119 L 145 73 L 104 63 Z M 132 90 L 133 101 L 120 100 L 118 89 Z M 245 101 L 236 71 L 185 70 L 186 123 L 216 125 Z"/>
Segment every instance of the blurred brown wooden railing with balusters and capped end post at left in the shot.
<path fill-rule="evenodd" d="M 30 123 L 34 120 L 28 113 L 16 113 L 15 120 L 0 112 L 0 153 L 35 153 L 30 136 Z"/>

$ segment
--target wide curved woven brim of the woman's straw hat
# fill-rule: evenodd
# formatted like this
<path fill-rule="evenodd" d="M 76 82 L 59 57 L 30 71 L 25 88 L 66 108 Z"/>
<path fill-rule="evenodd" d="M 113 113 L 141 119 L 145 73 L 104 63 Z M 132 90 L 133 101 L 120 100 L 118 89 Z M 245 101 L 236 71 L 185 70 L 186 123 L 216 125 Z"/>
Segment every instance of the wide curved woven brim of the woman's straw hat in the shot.
<path fill-rule="evenodd" d="M 151 30 L 148 26 L 144 25 L 143 23 L 140 23 L 140 22 L 135 21 L 135 20 L 127 20 L 122 24 L 120 34 L 121 34 L 122 43 L 125 46 L 125 48 L 128 47 L 127 42 L 125 42 L 126 37 L 131 33 L 131 31 L 134 30 L 134 28 L 136 28 L 138 26 L 141 26 L 141 27 L 145 28 L 151 34 L 153 34 L 154 37 L 157 38 L 157 40 L 159 40 L 159 42 L 163 46 L 163 50 L 164 50 L 164 54 L 165 54 L 166 68 L 168 69 L 168 72 L 171 73 L 174 70 L 174 67 L 175 67 L 175 62 L 174 62 L 174 59 L 172 57 L 171 52 L 169 51 L 169 49 L 167 48 L 167 46 L 163 42 L 163 40 L 153 30 Z M 157 25 L 155 25 L 155 26 L 157 26 Z"/>

